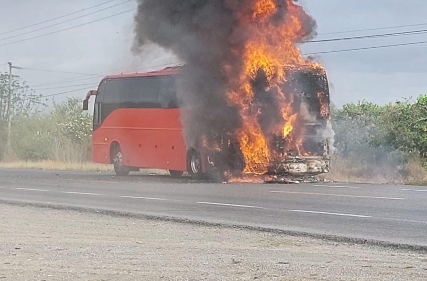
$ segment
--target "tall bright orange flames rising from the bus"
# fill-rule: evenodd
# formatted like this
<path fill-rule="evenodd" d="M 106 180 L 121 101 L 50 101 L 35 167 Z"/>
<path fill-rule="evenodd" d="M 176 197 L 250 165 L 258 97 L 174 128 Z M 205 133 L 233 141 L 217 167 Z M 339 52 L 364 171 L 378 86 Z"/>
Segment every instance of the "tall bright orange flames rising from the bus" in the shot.
<path fill-rule="evenodd" d="M 272 20 L 278 11 L 279 0 L 254 0 L 251 17 L 241 15 L 242 24 L 253 25 L 254 36 L 248 40 L 242 53 L 244 67 L 239 80 L 228 93 L 231 104 L 238 106 L 242 120 L 241 128 L 236 132 L 240 142 L 240 149 L 245 159 L 244 174 L 263 174 L 267 172 L 270 161 L 276 157 L 270 148 L 268 139 L 258 120 L 260 112 L 254 107 L 255 91 L 252 82 L 260 70 L 265 76 L 265 91 L 275 90 L 278 105 L 281 108 L 281 117 L 277 127 L 277 135 L 287 141 L 288 149 L 302 152 L 302 129 L 295 129 L 299 118 L 298 112 L 293 109 L 293 99 L 280 90 L 286 81 L 285 68 L 288 65 L 309 65 L 312 68 L 321 67 L 318 64 L 306 61 L 295 43 L 304 34 L 300 14 L 302 8 L 292 0 L 286 0 L 287 15 L 277 23 Z M 227 72 L 227 67 L 225 67 Z M 230 77 L 234 77 L 231 76 Z"/>

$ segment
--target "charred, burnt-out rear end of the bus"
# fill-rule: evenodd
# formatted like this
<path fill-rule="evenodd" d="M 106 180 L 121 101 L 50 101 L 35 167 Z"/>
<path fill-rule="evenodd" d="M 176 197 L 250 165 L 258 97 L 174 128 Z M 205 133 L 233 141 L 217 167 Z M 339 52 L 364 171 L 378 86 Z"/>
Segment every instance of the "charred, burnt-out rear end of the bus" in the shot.
<path fill-rule="evenodd" d="M 323 68 L 296 68 L 287 73 L 283 91 L 293 97 L 292 107 L 299 120 L 299 145 L 289 147 L 289 139 L 276 136 L 271 148 L 279 155 L 268 168 L 271 175 L 318 175 L 329 172 L 329 146 L 333 137 L 330 123 L 330 95 Z"/>

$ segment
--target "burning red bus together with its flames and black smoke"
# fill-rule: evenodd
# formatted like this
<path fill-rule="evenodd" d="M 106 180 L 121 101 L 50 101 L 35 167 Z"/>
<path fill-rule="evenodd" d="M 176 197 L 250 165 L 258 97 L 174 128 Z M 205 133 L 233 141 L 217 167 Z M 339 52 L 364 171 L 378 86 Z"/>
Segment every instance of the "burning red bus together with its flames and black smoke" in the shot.
<path fill-rule="evenodd" d="M 293 0 L 139 0 L 135 54 L 154 43 L 185 66 L 90 92 L 93 160 L 227 181 L 328 172 L 328 79 L 298 48 L 315 27 Z"/>

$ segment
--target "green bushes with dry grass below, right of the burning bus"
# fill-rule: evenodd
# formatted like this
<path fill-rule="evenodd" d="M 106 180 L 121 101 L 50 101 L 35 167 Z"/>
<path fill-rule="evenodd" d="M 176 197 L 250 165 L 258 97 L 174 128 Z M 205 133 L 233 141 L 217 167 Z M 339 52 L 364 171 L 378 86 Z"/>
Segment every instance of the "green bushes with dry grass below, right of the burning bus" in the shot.
<path fill-rule="evenodd" d="M 386 105 L 333 108 L 335 152 L 329 179 L 427 184 L 427 95 Z"/>

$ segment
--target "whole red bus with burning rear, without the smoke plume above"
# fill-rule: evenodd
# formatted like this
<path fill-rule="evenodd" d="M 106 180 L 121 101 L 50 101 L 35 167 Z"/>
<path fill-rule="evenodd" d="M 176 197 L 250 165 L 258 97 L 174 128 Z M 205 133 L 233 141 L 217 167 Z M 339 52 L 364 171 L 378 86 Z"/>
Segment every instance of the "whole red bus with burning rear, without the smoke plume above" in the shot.
<path fill-rule="evenodd" d="M 106 76 L 88 92 L 84 109 L 95 96 L 94 162 L 113 164 L 122 176 L 152 168 L 169 170 L 172 176 L 188 172 L 195 179 L 211 176 L 221 181 L 329 171 L 329 138 L 324 133 L 330 118 L 329 87 L 322 67 L 287 66 L 286 81 L 273 88 L 263 85 L 265 75 L 259 73 L 249 119 L 242 118 L 239 125 L 254 126 L 253 135 L 227 128 L 209 134 L 206 128 L 192 146 L 183 137 L 181 69 Z M 227 106 L 240 110 L 233 102 Z"/>

